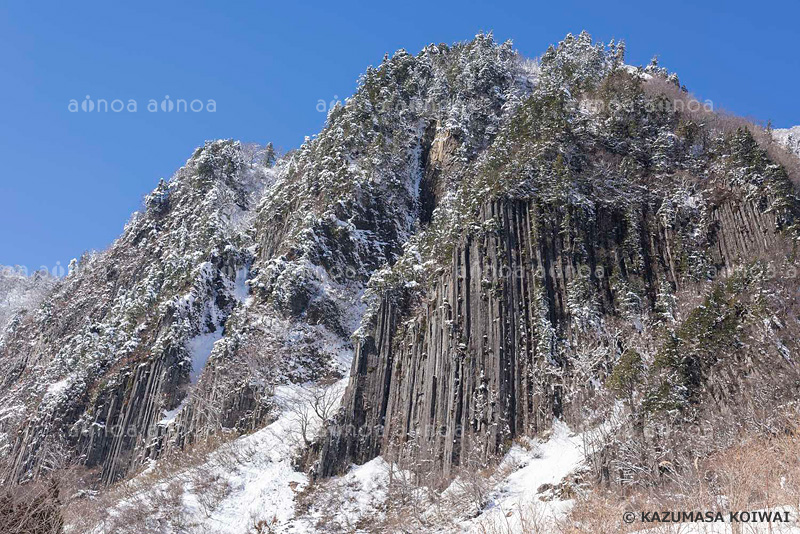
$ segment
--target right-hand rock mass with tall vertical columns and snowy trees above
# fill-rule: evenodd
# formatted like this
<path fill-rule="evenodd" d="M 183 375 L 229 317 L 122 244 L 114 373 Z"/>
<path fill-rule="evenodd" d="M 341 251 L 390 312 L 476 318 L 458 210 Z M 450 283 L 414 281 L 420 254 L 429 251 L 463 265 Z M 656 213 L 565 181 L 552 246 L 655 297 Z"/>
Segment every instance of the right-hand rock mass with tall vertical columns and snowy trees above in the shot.
<path fill-rule="evenodd" d="M 559 55 L 575 58 L 574 44 L 549 52 L 550 61 L 563 65 Z M 591 59 L 578 48 L 577 63 Z M 650 98 L 621 89 L 633 80 L 621 81 L 628 74 L 613 67 L 596 76 L 605 81 L 591 94 Z M 665 406 L 664 398 L 674 395 L 670 409 L 677 407 L 686 421 L 690 410 L 713 402 L 703 392 L 740 387 L 738 378 L 720 373 L 718 367 L 728 364 L 688 353 L 671 368 L 680 368 L 681 378 L 670 383 L 660 373 L 673 364 L 659 354 L 670 350 L 664 338 L 695 331 L 685 324 L 695 320 L 684 311 L 693 305 L 681 304 L 691 301 L 688 295 L 703 294 L 760 259 L 790 257 L 800 202 L 785 172 L 742 129 L 701 133 L 703 146 L 694 134 L 681 140 L 686 119 L 677 115 L 627 117 L 629 132 L 641 120 L 659 125 L 634 139 L 612 126 L 618 120 L 613 112 L 587 119 L 566 106 L 554 111 L 563 122 L 548 138 L 537 129 L 553 117 L 541 114 L 552 95 L 540 90 L 541 99 L 534 93 L 530 107 L 523 104 L 521 117 L 512 117 L 488 149 L 473 178 L 477 185 L 463 182 L 462 198 L 480 200 L 475 189 L 486 174 L 494 192 L 455 232 L 452 252 L 419 283 L 409 284 L 401 260 L 394 269 L 401 283 L 376 290 L 377 311 L 362 326 L 343 410 L 322 443 L 322 476 L 379 454 L 445 476 L 486 465 L 513 439 L 549 428 L 554 418 L 583 424 L 606 395 L 606 384 L 619 380 L 622 356 L 639 358 L 637 351 L 649 350 L 653 358 L 641 364 L 652 377 L 642 374 L 641 384 L 630 385 L 640 388 L 631 395 L 648 406 L 633 410 L 637 418 L 646 417 L 645 410 L 666 410 L 651 406 Z M 535 120 L 526 130 L 528 113 Z M 584 120 L 591 123 L 586 129 Z M 671 145 L 666 153 L 665 142 Z M 633 159 L 638 168 L 629 173 Z M 446 247 L 436 242 L 428 256 Z M 681 321 L 680 328 L 672 326 Z M 713 337 L 717 328 L 712 324 L 707 334 Z M 785 330 L 772 335 L 780 346 L 791 337 Z M 737 339 L 731 348 L 747 343 Z M 786 376 L 797 374 L 780 351 L 767 350 L 765 362 Z M 770 365 L 755 374 L 771 373 L 765 371 Z M 783 391 L 783 400 L 772 398 L 771 406 L 797 393 L 796 386 Z"/>

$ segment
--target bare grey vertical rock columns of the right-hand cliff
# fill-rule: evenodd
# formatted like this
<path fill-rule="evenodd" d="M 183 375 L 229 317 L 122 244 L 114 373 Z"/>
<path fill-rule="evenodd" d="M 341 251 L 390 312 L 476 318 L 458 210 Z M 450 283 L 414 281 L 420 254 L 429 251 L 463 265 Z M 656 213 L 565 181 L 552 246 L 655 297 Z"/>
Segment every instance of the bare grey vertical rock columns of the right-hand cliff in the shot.
<path fill-rule="evenodd" d="M 767 204 L 732 195 L 710 207 L 708 272 L 723 273 L 782 243 L 781 223 Z M 553 418 L 580 414 L 597 382 L 573 367 L 582 341 L 602 339 L 603 317 L 629 313 L 623 288 L 641 288 L 638 313 L 647 315 L 664 280 L 675 291 L 698 274 L 687 271 L 693 252 L 658 207 L 601 209 L 570 224 L 535 201 L 484 206 L 479 221 L 486 230 L 459 243 L 416 309 L 382 300 L 358 345 L 320 473 L 394 448 L 449 474 L 467 462 L 482 465 Z M 585 253 L 581 243 L 588 244 Z M 588 309 L 572 307 L 579 291 Z"/>

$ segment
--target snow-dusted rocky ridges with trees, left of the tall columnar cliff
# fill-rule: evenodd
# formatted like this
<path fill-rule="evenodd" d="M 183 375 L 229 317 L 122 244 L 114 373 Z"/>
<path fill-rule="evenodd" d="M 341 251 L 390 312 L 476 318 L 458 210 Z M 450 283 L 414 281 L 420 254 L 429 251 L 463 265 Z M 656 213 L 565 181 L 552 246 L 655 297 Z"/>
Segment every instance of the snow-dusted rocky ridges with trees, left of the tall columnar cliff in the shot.
<path fill-rule="evenodd" d="M 345 372 L 366 281 L 402 254 L 420 206 L 483 150 L 528 74 L 490 36 L 399 51 L 274 165 L 232 141 L 198 149 L 0 341 L 4 478 L 77 463 L 113 483 L 263 426 L 278 384 Z"/>

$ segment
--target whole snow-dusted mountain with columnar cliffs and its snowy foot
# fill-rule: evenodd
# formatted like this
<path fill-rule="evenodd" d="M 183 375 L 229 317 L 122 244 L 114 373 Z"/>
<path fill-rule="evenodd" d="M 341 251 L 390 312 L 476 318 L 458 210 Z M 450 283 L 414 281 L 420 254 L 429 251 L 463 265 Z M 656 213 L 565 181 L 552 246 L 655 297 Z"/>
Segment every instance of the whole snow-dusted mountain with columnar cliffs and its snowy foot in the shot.
<path fill-rule="evenodd" d="M 400 50 L 298 150 L 207 142 L 0 279 L 5 484 L 58 476 L 74 532 L 547 532 L 779 433 L 800 162 L 624 51 Z"/>

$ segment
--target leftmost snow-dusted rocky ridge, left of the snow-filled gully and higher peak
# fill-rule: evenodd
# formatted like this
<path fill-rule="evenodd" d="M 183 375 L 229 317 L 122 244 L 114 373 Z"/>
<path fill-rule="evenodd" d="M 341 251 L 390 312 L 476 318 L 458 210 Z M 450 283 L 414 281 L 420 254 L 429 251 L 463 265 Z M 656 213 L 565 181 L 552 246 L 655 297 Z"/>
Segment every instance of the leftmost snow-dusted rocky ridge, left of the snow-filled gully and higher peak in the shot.
<path fill-rule="evenodd" d="M 253 256 L 240 224 L 271 179 L 247 150 L 198 149 L 109 250 L 85 255 L 6 331 L 0 446 L 10 480 L 79 462 L 108 483 L 159 453 L 163 412 L 203 371 L 192 340 L 221 333 L 242 304 L 237 284 Z"/>

